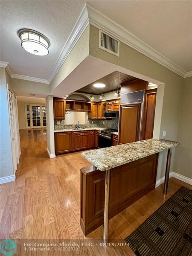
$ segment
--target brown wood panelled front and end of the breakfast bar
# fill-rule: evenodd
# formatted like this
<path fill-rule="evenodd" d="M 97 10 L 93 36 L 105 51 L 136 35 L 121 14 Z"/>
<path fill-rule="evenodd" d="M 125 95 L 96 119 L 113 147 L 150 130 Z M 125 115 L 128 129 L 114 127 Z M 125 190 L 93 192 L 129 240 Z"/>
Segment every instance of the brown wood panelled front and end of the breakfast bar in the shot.
<path fill-rule="evenodd" d="M 158 153 L 112 168 L 109 219 L 155 188 Z M 81 168 L 80 224 L 87 236 L 104 221 L 105 172 Z"/>

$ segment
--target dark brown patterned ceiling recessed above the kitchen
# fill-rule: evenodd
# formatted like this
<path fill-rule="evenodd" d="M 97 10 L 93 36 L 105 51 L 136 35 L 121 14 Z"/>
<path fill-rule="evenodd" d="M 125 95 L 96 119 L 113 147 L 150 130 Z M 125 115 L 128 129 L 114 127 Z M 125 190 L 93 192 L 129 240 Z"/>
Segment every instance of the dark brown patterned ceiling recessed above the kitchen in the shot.
<path fill-rule="evenodd" d="M 101 78 L 97 81 L 94 81 L 91 84 L 88 84 L 88 85 L 82 87 L 81 89 L 77 90 L 77 92 L 93 93 L 93 94 L 99 95 L 101 93 L 106 93 L 109 91 L 119 89 L 121 83 L 132 81 L 134 79 L 136 79 L 136 78 L 133 76 L 123 74 L 119 71 L 115 71 L 107 76 L 104 76 L 103 78 Z M 106 86 L 104 88 L 95 88 L 93 86 L 93 84 L 96 82 L 104 83 Z"/>

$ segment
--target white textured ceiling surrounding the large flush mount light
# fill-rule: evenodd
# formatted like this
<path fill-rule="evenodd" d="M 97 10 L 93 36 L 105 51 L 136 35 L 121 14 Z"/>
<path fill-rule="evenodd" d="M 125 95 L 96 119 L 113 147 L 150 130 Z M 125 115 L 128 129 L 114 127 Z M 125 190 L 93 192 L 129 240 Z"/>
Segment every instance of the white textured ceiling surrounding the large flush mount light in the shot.
<path fill-rule="evenodd" d="M 1 0 L 0 60 L 9 62 L 15 74 L 48 79 L 83 6 L 81 0 Z M 23 28 L 49 39 L 49 55 L 32 55 L 22 49 L 17 32 Z"/>

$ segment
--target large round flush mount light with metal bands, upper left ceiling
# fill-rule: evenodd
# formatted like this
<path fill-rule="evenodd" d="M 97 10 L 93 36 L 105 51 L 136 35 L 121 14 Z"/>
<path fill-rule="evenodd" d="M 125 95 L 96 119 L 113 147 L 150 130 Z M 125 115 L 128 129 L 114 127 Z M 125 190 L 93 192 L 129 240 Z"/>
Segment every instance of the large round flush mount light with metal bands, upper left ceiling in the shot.
<path fill-rule="evenodd" d="M 50 42 L 41 33 L 32 29 L 20 29 L 18 36 L 21 40 L 21 47 L 27 52 L 41 56 L 49 54 Z"/>

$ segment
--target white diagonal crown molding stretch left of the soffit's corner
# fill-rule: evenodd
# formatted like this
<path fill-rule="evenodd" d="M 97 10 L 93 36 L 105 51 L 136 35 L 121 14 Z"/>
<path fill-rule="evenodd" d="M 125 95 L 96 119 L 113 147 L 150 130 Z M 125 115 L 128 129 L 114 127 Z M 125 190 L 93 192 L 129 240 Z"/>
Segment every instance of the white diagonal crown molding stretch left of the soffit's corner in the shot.
<path fill-rule="evenodd" d="M 67 56 L 70 54 L 71 50 L 83 34 L 84 30 L 89 25 L 89 18 L 88 18 L 88 12 L 87 12 L 87 6 L 85 4 L 81 14 L 79 15 L 79 18 L 73 27 L 72 32 L 70 33 L 69 37 L 67 38 L 67 42 L 64 44 L 63 49 L 61 50 L 61 53 L 55 63 L 55 66 L 53 67 L 51 74 L 49 76 L 49 84 L 51 83 L 52 79 L 57 74 L 58 70 L 61 68 L 62 64 L 66 60 Z"/>

